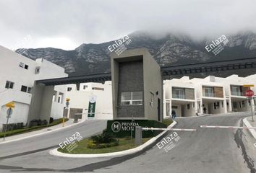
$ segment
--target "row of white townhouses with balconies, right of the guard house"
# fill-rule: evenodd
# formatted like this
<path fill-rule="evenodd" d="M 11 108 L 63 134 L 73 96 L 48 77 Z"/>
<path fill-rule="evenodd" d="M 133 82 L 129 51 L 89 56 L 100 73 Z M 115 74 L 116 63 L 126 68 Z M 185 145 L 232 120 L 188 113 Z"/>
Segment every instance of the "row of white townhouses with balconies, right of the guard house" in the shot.
<path fill-rule="evenodd" d="M 244 96 L 249 88 L 244 87 L 244 84 L 256 86 L 256 74 L 247 77 L 231 75 L 226 78 L 208 76 L 204 79 L 189 79 L 188 76 L 184 76 L 181 79 L 163 81 L 164 117 L 168 116 L 171 110 L 175 110 L 176 115 L 182 117 L 202 113 L 250 111 L 251 100 Z M 254 92 L 256 92 L 255 86 L 251 88 Z M 195 91 L 195 97 L 192 97 L 193 91 Z M 252 110 L 255 110 L 254 105 L 255 97 Z"/>

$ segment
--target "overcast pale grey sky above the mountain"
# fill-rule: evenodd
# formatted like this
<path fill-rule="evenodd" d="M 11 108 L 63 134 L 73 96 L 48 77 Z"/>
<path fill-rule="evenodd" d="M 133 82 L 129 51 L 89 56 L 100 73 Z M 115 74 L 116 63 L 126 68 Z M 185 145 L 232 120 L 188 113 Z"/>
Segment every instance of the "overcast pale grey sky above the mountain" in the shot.
<path fill-rule="evenodd" d="M 0 0 L 0 45 L 62 48 L 137 30 L 196 39 L 256 33 L 255 0 Z"/>

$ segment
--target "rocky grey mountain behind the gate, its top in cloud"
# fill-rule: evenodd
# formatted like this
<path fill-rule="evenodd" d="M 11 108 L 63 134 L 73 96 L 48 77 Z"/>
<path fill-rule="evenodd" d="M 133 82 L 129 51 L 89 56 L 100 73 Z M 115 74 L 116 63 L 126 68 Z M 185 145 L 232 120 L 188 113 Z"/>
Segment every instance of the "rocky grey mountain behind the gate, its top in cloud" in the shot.
<path fill-rule="evenodd" d="M 220 35 L 221 37 L 221 35 Z M 129 35 L 132 41 L 125 45 L 127 49 L 148 48 L 151 55 L 160 66 L 200 63 L 207 61 L 221 61 L 236 58 L 250 58 L 256 56 L 256 34 L 241 32 L 236 35 L 226 35 L 229 42 L 223 45 L 223 50 L 214 55 L 205 49 L 213 44 L 218 37 L 204 40 L 193 40 L 187 35 L 166 34 L 156 37 L 149 32 L 133 32 Z M 213 42 L 212 42 L 213 41 Z M 65 68 L 70 76 L 80 74 L 97 74 L 110 71 L 109 45 L 114 41 L 101 44 L 82 44 L 75 50 L 61 50 L 56 48 L 18 49 L 17 53 L 27 58 L 45 58 L 52 63 Z M 242 76 L 256 73 L 253 71 L 225 71 L 221 75 L 240 74 Z M 207 74 L 199 74 L 205 76 Z M 213 74 L 214 75 L 214 74 Z M 221 76 L 218 74 L 218 76 Z M 198 75 L 195 75 L 198 76 Z"/>

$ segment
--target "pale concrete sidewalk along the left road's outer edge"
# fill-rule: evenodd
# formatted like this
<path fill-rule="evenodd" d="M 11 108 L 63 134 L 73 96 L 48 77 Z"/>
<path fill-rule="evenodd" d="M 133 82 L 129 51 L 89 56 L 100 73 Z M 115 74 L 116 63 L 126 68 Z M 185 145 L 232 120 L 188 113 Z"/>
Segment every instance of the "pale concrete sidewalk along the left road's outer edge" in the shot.
<path fill-rule="evenodd" d="M 78 123 L 82 123 L 84 120 L 78 120 Z M 22 134 L 18 134 L 18 135 L 14 135 L 14 136 L 8 136 L 5 138 L 5 141 L 4 141 L 4 138 L 0 138 L 0 144 L 1 143 L 7 143 L 9 141 L 19 141 L 23 138 L 30 138 L 32 136 L 39 136 L 41 134 L 44 134 L 44 133 L 49 133 L 53 130 L 58 130 L 58 129 L 61 129 L 61 128 L 66 128 L 66 127 L 69 127 L 70 125 L 75 125 L 77 123 L 74 123 L 74 119 L 69 119 L 67 122 L 64 123 L 64 127 L 62 127 L 62 123 L 59 124 L 59 125 L 54 125 L 54 126 L 51 126 L 51 127 L 48 127 L 48 128 L 43 128 L 41 130 L 35 130 L 35 131 L 32 131 L 32 132 L 28 132 L 28 133 L 22 133 Z"/>

